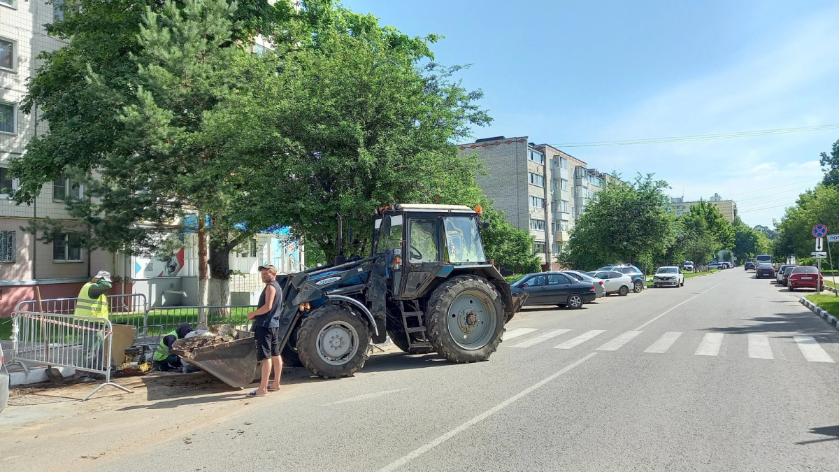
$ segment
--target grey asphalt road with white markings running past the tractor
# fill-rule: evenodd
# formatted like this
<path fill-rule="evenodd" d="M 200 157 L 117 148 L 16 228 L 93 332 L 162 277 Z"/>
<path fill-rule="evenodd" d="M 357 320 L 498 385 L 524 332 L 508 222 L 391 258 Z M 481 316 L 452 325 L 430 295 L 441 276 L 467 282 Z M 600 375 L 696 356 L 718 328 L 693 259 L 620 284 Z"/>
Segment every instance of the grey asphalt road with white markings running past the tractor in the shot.
<path fill-rule="evenodd" d="M 732 269 L 576 311 L 525 308 L 487 362 L 376 356 L 351 379 L 248 400 L 95 466 L 836 470 L 836 362 L 839 332 Z"/>

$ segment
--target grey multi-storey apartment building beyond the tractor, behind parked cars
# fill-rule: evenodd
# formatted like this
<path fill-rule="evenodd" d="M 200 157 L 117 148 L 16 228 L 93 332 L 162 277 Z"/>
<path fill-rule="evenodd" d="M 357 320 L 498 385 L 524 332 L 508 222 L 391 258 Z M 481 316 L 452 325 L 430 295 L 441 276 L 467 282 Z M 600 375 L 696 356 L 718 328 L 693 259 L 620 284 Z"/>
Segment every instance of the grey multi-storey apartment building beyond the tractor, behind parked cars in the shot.
<path fill-rule="evenodd" d="M 534 252 L 543 268 L 556 268 L 555 256 L 568 242 L 586 202 L 600 191 L 606 176 L 586 162 L 527 136 L 498 136 L 460 145 L 461 153 L 478 153 L 487 176 L 477 181 L 509 223 L 534 236 Z"/>

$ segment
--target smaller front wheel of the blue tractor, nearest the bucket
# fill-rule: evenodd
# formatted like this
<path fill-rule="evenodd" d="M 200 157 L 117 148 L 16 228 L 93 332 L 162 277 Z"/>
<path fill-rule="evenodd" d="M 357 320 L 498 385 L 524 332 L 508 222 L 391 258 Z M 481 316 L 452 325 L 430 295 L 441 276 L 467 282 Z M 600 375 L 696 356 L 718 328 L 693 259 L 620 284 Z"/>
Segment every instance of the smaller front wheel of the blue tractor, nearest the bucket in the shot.
<path fill-rule="evenodd" d="M 370 357 L 370 329 L 352 310 L 340 305 L 316 308 L 300 323 L 300 363 L 325 379 L 351 376 Z"/>

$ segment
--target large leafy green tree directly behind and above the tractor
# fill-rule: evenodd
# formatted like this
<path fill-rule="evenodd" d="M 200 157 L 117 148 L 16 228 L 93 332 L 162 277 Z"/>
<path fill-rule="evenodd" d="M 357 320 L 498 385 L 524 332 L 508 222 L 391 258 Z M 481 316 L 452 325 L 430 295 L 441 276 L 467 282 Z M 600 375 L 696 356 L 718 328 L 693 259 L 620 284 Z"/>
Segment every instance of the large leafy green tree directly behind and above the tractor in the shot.
<path fill-rule="evenodd" d="M 460 67 L 433 62 L 436 36 L 411 38 L 343 8 L 321 13 L 327 25 L 311 47 L 304 39 L 232 63 L 247 86 L 206 117 L 211 148 L 240 163 L 249 198 L 327 259 L 336 214 L 357 235 L 345 254 L 368 254 L 375 207 L 486 203 L 479 160 L 451 144 L 488 123 L 475 104 L 482 93 L 453 80 Z"/>

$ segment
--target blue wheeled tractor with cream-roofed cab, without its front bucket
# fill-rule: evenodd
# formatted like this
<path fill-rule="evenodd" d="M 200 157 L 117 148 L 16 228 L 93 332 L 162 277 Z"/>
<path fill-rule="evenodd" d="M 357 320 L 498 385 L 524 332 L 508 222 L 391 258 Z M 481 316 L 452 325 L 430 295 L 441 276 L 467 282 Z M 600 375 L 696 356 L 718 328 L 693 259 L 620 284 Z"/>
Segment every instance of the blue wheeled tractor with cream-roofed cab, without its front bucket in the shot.
<path fill-rule="evenodd" d="M 315 375 L 361 369 L 371 344 L 455 363 L 488 359 L 523 297 L 484 255 L 480 207 L 396 204 L 379 208 L 372 254 L 280 275 L 283 358 Z M 352 228 L 351 228 L 352 231 Z M 350 236 L 352 238 L 352 236 Z"/>

